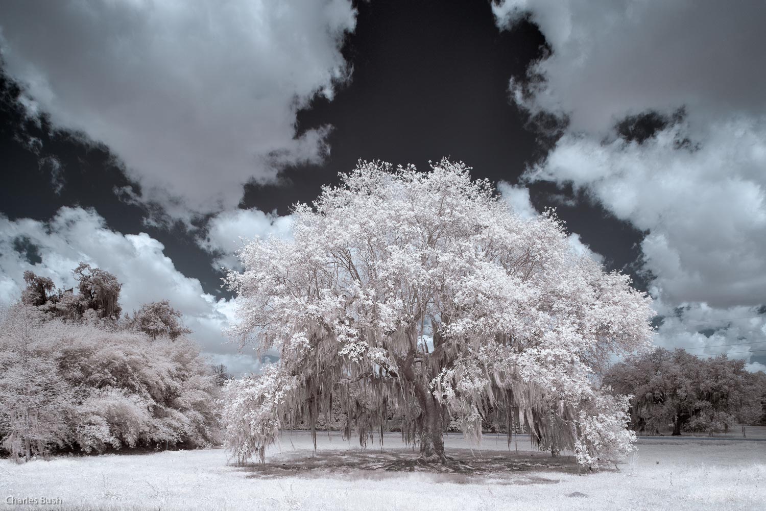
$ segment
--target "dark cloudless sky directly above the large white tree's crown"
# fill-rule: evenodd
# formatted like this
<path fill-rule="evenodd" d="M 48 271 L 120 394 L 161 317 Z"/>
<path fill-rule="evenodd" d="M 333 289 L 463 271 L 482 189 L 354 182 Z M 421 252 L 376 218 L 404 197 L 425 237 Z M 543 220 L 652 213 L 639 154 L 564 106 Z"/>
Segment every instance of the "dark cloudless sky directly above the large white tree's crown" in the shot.
<path fill-rule="evenodd" d="M 477 178 L 516 183 L 525 165 L 545 155 L 545 141 L 508 92 L 509 77 L 524 78 L 530 62 L 545 54 L 535 25 L 501 32 L 483 2 L 361 2 L 358 12 L 343 50 L 353 65 L 352 83 L 298 115 L 299 132 L 334 127 L 329 158 L 284 169 L 280 185 L 248 185 L 244 207 L 286 214 L 295 201 L 316 198 L 322 184 L 336 182 L 338 172 L 353 169 L 358 159 L 428 169 L 429 160 L 446 156 L 471 165 Z M 548 198 L 571 197 L 571 187 L 563 188 L 532 185 L 533 205 L 558 208 L 609 267 L 630 270 L 640 232 L 586 198 L 576 207 Z"/>

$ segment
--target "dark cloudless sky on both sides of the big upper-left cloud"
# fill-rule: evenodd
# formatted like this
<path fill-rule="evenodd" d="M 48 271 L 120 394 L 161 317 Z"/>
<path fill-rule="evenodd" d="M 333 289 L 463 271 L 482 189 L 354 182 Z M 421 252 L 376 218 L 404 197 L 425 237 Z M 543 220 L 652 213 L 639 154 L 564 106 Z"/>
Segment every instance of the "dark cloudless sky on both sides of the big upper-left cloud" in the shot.
<path fill-rule="evenodd" d="M 531 61 L 542 57 L 545 38 L 535 25 L 522 23 L 499 31 L 489 3 L 459 1 L 361 2 L 357 27 L 342 54 L 352 65 L 350 84 L 332 101 L 317 97 L 297 116 L 298 135 L 332 125 L 330 154 L 319 165 L 291 166 L 274 185 L 247 185 L 241 208 L 276 210 L 286 215 L 296 201 L 312 201 L 321 185 L 336 182 L 338 172 L 358 159 L 414 163 L 428 168 L 444 156 L 473 166 L 477 178 L 516 183 L 528 162 L 545 152 L 528 116 L 509 101 L 509 77 L 524 77 Z M 145 208 L 121 201 L 115 187 L 140 186 L 126 178 L 124 164 L 110 149 L 84 134 L 24 122 L 12 100 L 18 95 L 3 80 L 2 165 L 10 185 L 0 190 L 2 212 L 10 219 L 47 220 L 62 205 L 92 207 L 110 228 L 125 234 L 146 231 L 165 244 L 178 270 L 198 277 L 208 292 L 220 282 L 211 257 L 181 225 L 147 227 Z M 34 154 L 18 139 L 18 126 L 42 140 Z M 66 185 L 51 186 L 47 156 L 61 163 Z M 50 165 L 47 165 L 48 167 Z M 580 201 L 561 208 L 548 200 L 551 185 L 532 187 L 535 207 L 558 206 L 561 216 L 610 266 L 625 267 L 637 256 L 637 231 Z M 559 193 L 561 191 L 558 191 Z M 571 190 L 570 190 L 571 193 Z"/>

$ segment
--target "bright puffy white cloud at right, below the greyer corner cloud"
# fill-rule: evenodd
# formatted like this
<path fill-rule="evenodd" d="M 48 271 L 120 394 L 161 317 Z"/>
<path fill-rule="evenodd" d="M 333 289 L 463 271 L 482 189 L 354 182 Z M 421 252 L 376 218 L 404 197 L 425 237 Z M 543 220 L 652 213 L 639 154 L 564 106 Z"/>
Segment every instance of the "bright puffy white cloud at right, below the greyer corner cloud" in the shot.
<path fill-rule="evenodd" d="M 678 149 L 683 126 L 642 144 L 565 135 L 529 179 L 572 182 L 617 218 L 649 231 L 641 248 L 672 303 L 766 301 L 766 120 L 709 126 Z"/>

